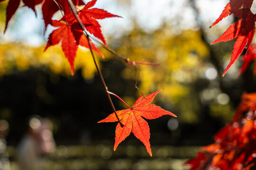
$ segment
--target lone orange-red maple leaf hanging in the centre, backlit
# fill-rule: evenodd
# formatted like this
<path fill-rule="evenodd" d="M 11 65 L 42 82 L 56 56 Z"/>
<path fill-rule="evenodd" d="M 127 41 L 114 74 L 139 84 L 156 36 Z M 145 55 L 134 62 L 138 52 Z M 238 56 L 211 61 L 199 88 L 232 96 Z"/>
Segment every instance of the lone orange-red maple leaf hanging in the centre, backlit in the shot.
<path fill-rule="evenodd" d="M 155 104 L 150 104 L 156 94 L 160 91 L 162 90 L 149 94 L 146 97 L 142 95 L 131 108 L 117 111 L 117 115 L 124 127 L 121 127 L 120 124 L 116 127 L 114 151 L 117 149 L 117 146 L 132 132 L 146 146 L 147 152 L 152 156 L 149 143 L 149 126 L 145 119 L 156 119 L 163 115 L 176 117 L 173 113 L 166 111 Z M 118 119 L 115 116 L 115 113 L 112 113 L 106 119 L 103 119 L 98 123 L 115 121 L 118 121 Z"/>

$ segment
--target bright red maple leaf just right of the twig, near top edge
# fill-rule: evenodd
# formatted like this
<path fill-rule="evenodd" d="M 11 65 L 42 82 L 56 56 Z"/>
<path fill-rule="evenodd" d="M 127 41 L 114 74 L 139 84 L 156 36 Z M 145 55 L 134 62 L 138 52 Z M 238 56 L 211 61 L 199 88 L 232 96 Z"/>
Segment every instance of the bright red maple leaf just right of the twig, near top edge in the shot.
<path fill-rule="evenodd" d="M 93 34 L 95 37 L 99 38 L 105 45 L 107 45 L 104 36 L 101 33 L 101 26 L 96 21 L 96 19 L 104 19 L 107 17 L 119 17 L 117 15 L 110 14 L 109 12 L 98 9 L 98 8 L 91 8 L 94 6 L 97 0 L 92 0 L 86 4 L 80 11 L 79 17 L 82 20 L 82 23 L 86 26 L 86 30 L 89 33 Z"/>

